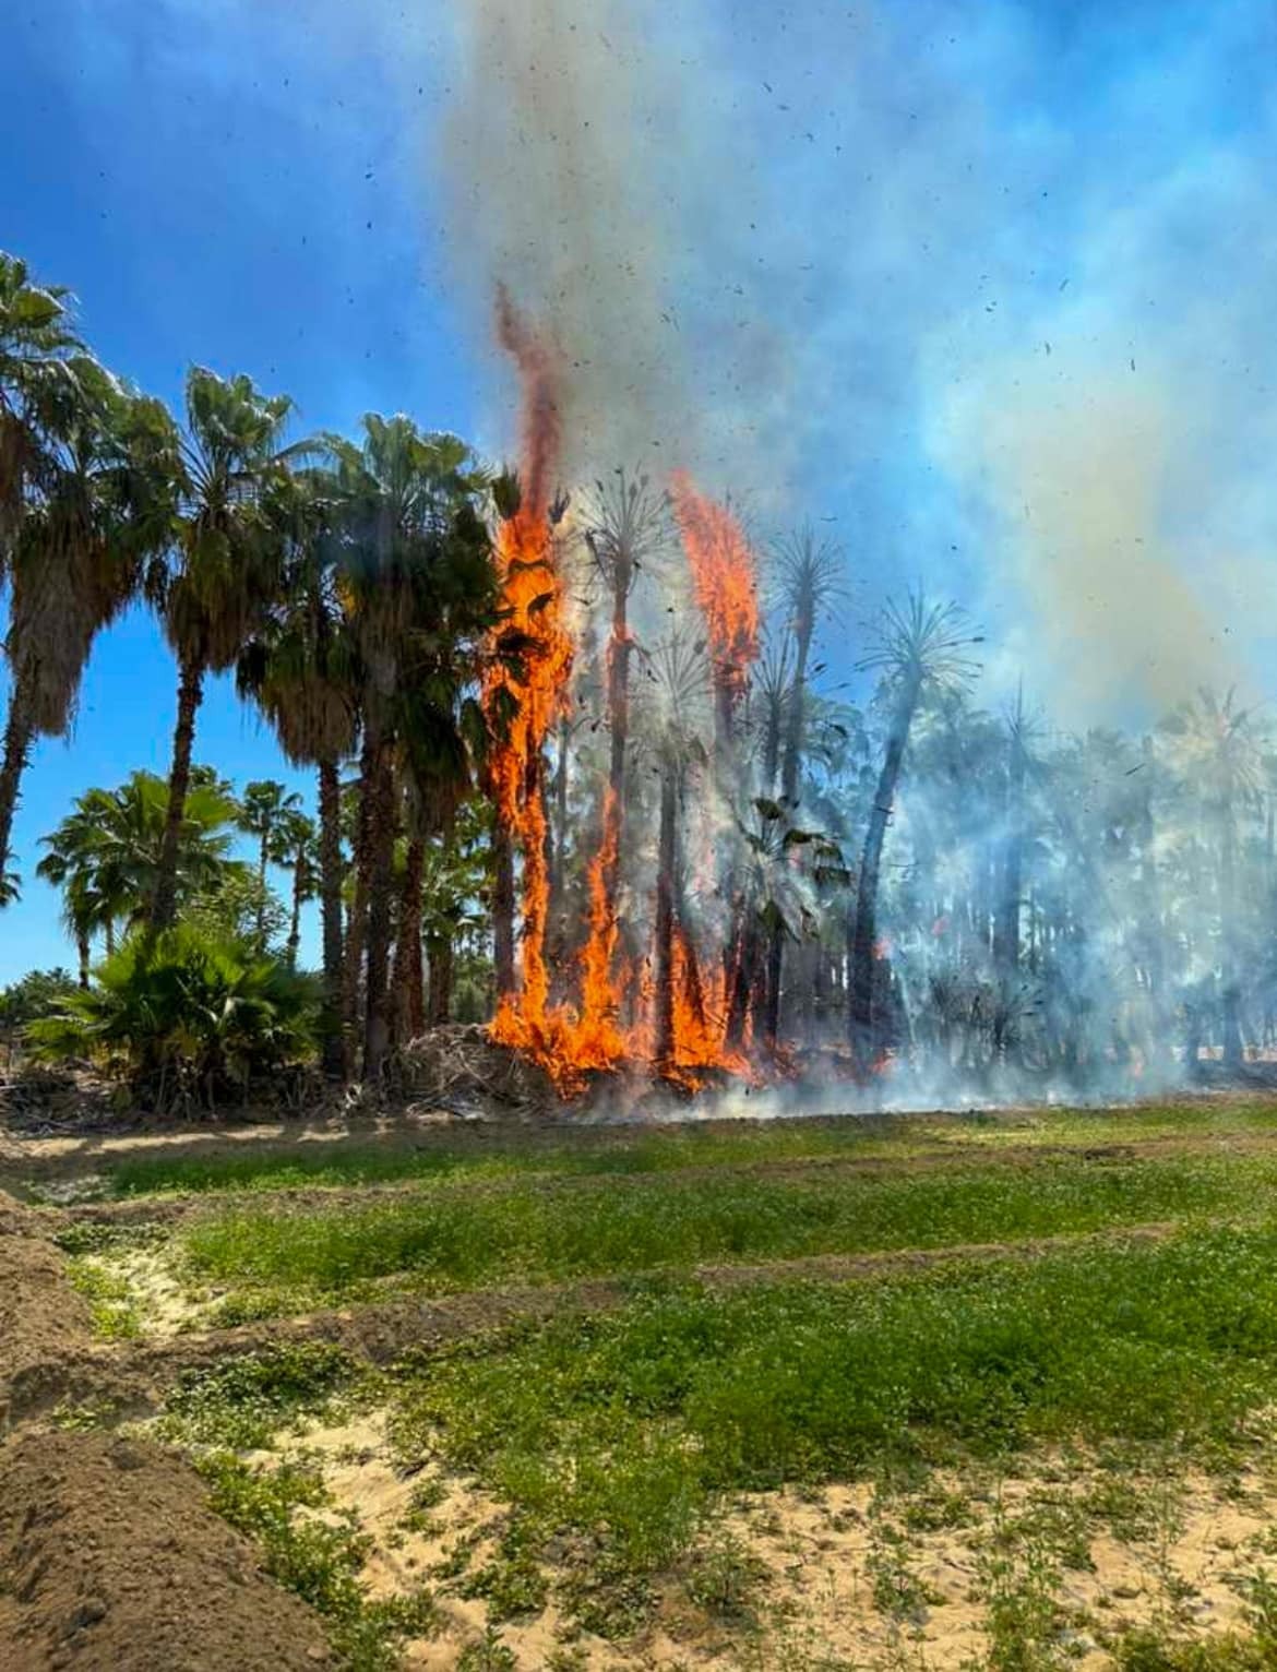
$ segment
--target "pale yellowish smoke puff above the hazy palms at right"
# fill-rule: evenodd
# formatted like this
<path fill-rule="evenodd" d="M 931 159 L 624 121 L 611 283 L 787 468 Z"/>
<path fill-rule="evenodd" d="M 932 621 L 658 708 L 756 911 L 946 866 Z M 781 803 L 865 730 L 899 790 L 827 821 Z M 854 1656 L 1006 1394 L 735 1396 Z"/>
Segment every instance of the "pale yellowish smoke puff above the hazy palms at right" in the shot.
<path fill-rule="evenodd" d="M 1028 614 L 1035 689 L 1073 724 L 1237 681 L 1220 620 L 1178 567 L 1170 510 L 1190 438 L 1163 386 L 1095 363 L 1016 366 L 953 421 L 958 461 L 998 508 L 991 579 Z"/>

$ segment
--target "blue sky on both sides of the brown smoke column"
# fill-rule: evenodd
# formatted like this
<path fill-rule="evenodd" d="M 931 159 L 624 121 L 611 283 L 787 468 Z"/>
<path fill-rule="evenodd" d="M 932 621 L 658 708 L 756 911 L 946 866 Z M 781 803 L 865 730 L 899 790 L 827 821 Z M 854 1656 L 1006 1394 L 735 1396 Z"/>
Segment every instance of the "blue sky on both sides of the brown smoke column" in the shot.
<path fill-rule="evenodd" d="M 291 393 L 303 430 L 408 410 L 500 448 L 491 249 L 440 147 L 456 17 L 488 3 L 12 0 L 0 247 L 169 400 L 202 361 Z M 577 10 L 633 25 L 622 74 L 655 117 L 632 162 L 605 135 L 680 323 L 635 339 L 727 413 L 710 475 L 834 518 L 834 659 L 921 577 L 981 615 L 993 696 L 1025 665 L 1083 719 L 1142 717 L 1188 669 L 1270 694 L 1269 5 Z M 65 960 L 37 839 L 85 786 L 164 769 L 172 686 L 144 614 L 100 642 L 74 737 L 25 781 L 0 981 Z M 298 781 L 224 684 L 197 754 Z"/>

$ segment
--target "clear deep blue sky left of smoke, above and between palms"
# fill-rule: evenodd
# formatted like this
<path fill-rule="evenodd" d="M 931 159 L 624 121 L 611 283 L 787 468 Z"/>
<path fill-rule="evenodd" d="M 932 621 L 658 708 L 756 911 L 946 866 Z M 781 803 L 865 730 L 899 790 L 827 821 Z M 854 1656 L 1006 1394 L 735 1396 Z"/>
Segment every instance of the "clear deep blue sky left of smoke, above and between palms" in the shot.
<path fill-rule="evenodd" d="M 107 364 L 169 401 L 201 361 L 293 395 L 299 430 L 408 410 L 468 433 L 468 373 L 430 261 L 426 122 L 410 104 L 438 85 L 423 65 L 423 92 L 408 89 L 384 38 L 304 30 L 311 10 L 7 8 L 0 247 L 70 284 Z M 100 640 L 70 742 L 45 741 L 25 777 L 25 888 L 0 916 L 0 981 L 67 960 L 57 896 L 32 874 L 37 839 L 87 786 L 167 769 L 172 687 L 145 612 Z M 209 687 L 197 756 L 313 796 L 229 681 Z"/>

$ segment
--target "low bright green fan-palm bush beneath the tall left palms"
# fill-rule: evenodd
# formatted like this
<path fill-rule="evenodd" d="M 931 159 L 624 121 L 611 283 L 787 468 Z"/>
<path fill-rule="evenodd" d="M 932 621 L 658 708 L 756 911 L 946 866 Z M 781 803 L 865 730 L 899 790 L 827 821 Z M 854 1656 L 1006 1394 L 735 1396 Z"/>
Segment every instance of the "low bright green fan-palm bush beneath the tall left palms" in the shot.
<path fill-rule="evenodd" d="M 311 976 L 179 925 L 127 940 L 94 986 L 67 993 L 25 1037 L 38 1058 L 90 1057 L 167 1112 L 244 1097 L 259 1075 L 309 1057 L 318 1010 Z"/>

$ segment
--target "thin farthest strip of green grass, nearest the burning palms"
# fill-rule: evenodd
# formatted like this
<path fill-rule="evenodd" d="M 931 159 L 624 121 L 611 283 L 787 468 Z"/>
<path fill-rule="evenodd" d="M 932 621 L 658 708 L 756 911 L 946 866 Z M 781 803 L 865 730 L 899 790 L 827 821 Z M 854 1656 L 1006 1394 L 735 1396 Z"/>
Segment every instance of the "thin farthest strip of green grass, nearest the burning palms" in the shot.
<path fill-rule="evenodd" d="M 293 1145 L 287 1152 L 211 1155 L 134 1155 L 107 1175 L 115 1197 L 279 1190 L 359 1184 L 510 1179 L 527 1174 L 647 1174 L 679 1167 L 749 1165 L 786 1160 L 908 1157 L 934 1145 L 1001 1149 L 1008 1145 L 1096 1144 L 1195 1134 L 1249 1134 L 1277 1129 L 1277 1107 L 1138 1107 L 1127 1110 L 1041 1110 L 1026 1117 L 866 1117 L 695 1125 L 645 1134 L 640 1129 L 585 1129 L 528 1142 L 505 1134 L 465 1142 Z"/>

